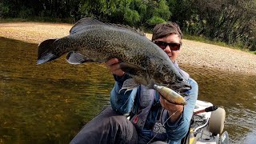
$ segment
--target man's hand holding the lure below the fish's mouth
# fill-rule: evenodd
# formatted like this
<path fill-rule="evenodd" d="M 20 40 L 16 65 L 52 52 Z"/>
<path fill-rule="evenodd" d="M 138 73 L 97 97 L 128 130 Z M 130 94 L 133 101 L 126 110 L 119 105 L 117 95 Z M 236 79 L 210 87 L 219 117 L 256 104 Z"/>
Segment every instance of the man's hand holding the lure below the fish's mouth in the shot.
<path fill-rule="evenodd" d="M 169 117 L 172 115 L 170 117 L 169 121 L 176 122 L 178 120 L 178 118 L 180 117 L 180 115 L 182 114 L 183 106 L 176 105 L 174 103 L 170 103 L 170 102 L 166 101 L 166 99 L 162 98 L 162 96 L 160 97 L 160 103 L 164 109 L 168 110 Z"/>

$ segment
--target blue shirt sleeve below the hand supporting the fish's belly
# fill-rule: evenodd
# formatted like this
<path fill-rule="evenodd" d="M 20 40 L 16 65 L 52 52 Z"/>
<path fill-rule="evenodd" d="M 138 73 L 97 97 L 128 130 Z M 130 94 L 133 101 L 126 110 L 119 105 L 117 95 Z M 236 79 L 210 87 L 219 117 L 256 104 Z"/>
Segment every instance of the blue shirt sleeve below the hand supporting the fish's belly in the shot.
<path fill-rule="evenodd" d="M 129 91 L 121 90 L 123 82 L 128 78 L 130 78 L 128 74 L 125 74 L 122 77 L 114 75 L 115 83 L 114 88 L 110 92 L 110 104 L 112 109 L 119 114 L 130 114 L 130 111 L 134 106 L 134 99 L 138 88 Z"/>

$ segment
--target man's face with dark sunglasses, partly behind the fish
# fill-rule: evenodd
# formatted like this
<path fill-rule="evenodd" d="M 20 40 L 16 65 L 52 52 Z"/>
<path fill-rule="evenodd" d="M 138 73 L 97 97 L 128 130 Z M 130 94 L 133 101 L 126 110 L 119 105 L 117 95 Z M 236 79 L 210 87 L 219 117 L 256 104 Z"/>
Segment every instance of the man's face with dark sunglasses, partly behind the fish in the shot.
<path fill-rule="evenodd" d="M 178 37 L 178 34 L 170 34 L 165 38 L 155 39 L 154 42 L 166 52 L 172 62 L 176 60 L 180 51 L 178 45 L 181 44 L 181 38 Z"/>

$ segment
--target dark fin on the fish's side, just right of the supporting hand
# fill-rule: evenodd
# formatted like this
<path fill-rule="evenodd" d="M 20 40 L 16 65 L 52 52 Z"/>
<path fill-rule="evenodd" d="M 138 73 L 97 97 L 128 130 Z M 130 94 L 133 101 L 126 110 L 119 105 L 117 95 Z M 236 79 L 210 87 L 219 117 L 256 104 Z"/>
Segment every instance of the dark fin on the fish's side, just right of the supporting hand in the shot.
<path fill-rule="evenodd" d="M 131 74 L 131 75 L 142 75 L 143 71 L 145 71 L 145 69 L 143 69 L 140 66 L 133 65 L 126 62 L 120 63 L 120 69 L 126 72 L 127 74 Z"/>

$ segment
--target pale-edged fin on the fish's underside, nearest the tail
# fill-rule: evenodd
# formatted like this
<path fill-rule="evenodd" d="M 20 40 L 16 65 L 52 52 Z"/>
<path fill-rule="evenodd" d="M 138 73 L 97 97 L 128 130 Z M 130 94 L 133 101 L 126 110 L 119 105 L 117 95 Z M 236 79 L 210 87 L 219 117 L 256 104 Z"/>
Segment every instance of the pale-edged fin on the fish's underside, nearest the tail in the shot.
<path fill-rule="evenodd" d="M 86 58 L 83 54 L 76 51 L 70 51 L 69 54 L 66 55 L 66 61 L 72 65 L 78 65 L 85 62 L 94 62 L 93 60 Z"/>

